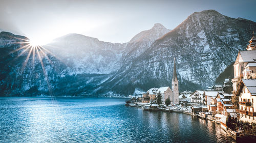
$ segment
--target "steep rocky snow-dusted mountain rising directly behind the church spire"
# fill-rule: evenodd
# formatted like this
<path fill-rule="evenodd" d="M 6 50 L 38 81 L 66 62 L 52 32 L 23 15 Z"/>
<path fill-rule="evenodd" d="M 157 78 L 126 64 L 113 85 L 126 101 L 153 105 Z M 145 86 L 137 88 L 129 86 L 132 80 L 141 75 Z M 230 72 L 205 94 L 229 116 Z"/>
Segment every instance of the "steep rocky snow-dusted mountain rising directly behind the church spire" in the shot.
<path fill-rule="evenodd" d="M 230 18 L 214 10 L 195 12 L 129 66 L 123 65 L 102 87 L 132 94 L 136 88 L 146 91 L 170 86 L 176 58 L 180 91 L 206 88 L 234 62 L 239 50 L 245 50 L 255 30 L 253 21 Z"/>

